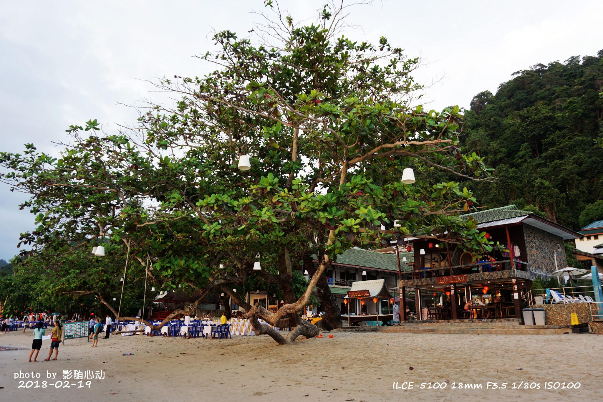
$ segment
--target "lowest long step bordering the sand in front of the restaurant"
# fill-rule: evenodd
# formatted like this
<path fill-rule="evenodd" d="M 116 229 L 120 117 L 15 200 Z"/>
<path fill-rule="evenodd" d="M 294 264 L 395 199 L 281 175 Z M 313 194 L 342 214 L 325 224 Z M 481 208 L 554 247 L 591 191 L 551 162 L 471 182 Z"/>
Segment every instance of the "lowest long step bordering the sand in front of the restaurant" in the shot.
<path fill-rule="evenodd" d="M 579 333 L 578 328 L 550 328 L 555 325 L 518 325 L 518 328 L 442 328 L 442 327 L 423 327 L 423 328 L 405 328 L 382 327 L 380 332 L 384 333 L 467 333 L 467 334 L 563 334 Z M 546 327 L 546 328 L 542 328 Z"/>

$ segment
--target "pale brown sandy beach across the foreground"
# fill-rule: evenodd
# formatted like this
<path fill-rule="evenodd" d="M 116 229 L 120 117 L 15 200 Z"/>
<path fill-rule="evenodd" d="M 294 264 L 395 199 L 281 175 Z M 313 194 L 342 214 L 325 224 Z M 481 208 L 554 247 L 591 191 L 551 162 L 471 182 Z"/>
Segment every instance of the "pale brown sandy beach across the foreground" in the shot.
<path fill-rule="evenodd" d="M 0 336 L 0 395 L 10 401 L 90 398 L 148 401 L 191 397 L 203 401 L 593 401 L 601 398 L 601 338 L 592 334 L 474 335 L 338 333 L 278 346 L 268 336 L 232 339 L 112 336 L 90 348 L 66 341 L 57 361 L 28 363 L 31 331 Z M 44 341 L 38 360 L 48 356 Z M 122 356 L 122 353 L 133 353 Z M 412 367 L 412 369 L 410 369 Z M 78 388 L 63 370 L 105 371 Z M 19 388 L 40 373 L 39 388 Z M 56 373 L 55 378 L 46 378 Z M 52 386 L 43 388 L 42 382 Z M 396 386 L 399 389 L 394 389 Z M 412 382 L 412 389 L 408 383 Z M 463 383 L 463 389 L 458 383 Z M 490 382 L 490 384 L 488 384 Z M 523 383 L 522 383 L 523 382 Z M 579 382 L 578 389 L 545 390 L 547 382 Z M 406 383 L 406 385 L 405 385 Z M 423 389 L 421 389 L 421 384 Z M 429 389 L 435 383 L 444 389 Z M 496 383 L 498 389 L 493 389 Z M 501 389 L 506 383 L 506 388 Z M 522 389 L 511 389 L 522 383 Z M 528 389 L 525 389 L 528 383 Z M 540 385 L 540 389 L 536 385 Z M 464 389 L 464 384 L 481 389 Z M 532 385 L 534 389 L 529 389 Z M 455 388 L 453 388 L 455 387 Z"/>

